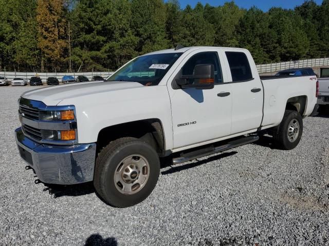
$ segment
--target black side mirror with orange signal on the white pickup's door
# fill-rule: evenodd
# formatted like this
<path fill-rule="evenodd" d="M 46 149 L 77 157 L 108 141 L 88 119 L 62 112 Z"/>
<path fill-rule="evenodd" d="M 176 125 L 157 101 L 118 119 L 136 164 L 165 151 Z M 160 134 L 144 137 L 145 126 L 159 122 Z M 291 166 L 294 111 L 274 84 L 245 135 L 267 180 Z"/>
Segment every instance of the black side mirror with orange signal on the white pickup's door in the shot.
<path fill-rule="evenodd" d="M 182 75 L 176 79 L 177 85 L 182 89 L 195 88 L 198 90 L 209 90 L 214 88 L 215 82 L 214 65 L 196 65 L 192 75 Z"/>

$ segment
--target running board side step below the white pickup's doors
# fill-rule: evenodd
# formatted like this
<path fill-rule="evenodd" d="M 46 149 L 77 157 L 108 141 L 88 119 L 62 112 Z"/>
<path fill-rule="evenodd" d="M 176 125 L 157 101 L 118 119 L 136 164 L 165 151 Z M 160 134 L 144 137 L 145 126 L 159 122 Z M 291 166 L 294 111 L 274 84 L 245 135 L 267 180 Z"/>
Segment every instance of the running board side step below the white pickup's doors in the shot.
<path fill-rule="evenodd" d="M 210 146 L 204 149 L 200 149 L 200 150 L 195 150 L 192 152 L 188 152 L 188 153 L 182 153 L 180 154 L 180 157 L 177 158 L 173 158 L 173 164 L 180 164 L 189 160 L 194 160 L 200 157 L 204 157 L 207 155 L 213 155 L 213 154 L 217 154 L 226 150 L 230 150 L 242 145 L 247 145 L 250 144 L 251 142 L 257 141 L 259 139 L 259 136 L 248 136 L 248 137 L 242 137 L 240 139 L 236 139 L 236 140 L 232 140 L 227 142 L 227 144 L 222 145 L 222 146 L 218 146 L 218 147 L 214 147 L 214 146 Z"/>

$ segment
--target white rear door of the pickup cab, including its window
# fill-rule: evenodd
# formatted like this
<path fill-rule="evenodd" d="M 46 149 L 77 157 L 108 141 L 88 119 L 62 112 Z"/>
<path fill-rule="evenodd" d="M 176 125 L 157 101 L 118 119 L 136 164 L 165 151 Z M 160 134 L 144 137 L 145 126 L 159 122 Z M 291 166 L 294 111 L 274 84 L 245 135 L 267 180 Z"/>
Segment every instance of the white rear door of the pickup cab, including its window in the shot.
<path fill-rule="evenodd" d="M 230 49 L 223 52 L 231 75 L 231 134 L 257 129 L 263 117 L 263 87 L 253 59 L 244 50 Z"/>

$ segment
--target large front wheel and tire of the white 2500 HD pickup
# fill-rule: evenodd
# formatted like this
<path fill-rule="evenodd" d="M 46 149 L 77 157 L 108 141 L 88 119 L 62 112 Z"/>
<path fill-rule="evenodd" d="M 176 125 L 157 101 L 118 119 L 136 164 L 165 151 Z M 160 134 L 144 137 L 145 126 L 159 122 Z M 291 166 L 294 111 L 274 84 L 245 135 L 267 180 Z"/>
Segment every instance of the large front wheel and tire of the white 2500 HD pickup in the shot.
<path fill-rule="evenodd" d="M 94 187 L 109 205 L 126 208 L 151 194 L 159 173 L 158 154 L 149 144 L 137 138 L 119 138 L 108 144 L 98 155 Z"/>

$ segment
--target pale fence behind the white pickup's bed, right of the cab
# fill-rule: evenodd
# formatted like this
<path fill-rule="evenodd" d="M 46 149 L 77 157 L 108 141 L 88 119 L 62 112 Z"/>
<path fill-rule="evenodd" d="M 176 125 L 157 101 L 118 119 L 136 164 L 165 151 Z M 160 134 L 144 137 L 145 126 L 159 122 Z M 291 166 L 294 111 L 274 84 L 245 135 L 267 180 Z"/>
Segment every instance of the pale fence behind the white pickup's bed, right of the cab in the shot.
<path fill-rule="evenodd" d="M 286 61 L 282 63 L 261 64 L 261 65 L 257 65 L 257 69 L 259 73 L 271 73 L 271 72 L 276 72 L 290 68 L 305 68 L 305 67 L 316 68 L 321 66 L 329 66 L 329 58 L 315 58 L 315 59 Z"/>

